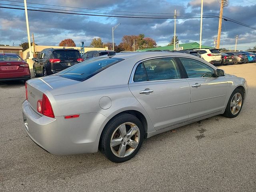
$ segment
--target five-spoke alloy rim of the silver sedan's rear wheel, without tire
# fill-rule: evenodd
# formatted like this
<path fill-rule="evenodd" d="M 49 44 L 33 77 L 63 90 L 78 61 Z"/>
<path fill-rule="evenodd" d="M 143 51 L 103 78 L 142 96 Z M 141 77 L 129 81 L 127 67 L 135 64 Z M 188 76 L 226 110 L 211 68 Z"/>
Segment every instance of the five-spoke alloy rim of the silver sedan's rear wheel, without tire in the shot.
<path fill-rule="evenodd" d="M 126 122 L 114 130 L 110 140 L 110 148 L 115 156 L 122 158 L 132 154 L 139 142 L 140 130 L 138 126 Z"/>

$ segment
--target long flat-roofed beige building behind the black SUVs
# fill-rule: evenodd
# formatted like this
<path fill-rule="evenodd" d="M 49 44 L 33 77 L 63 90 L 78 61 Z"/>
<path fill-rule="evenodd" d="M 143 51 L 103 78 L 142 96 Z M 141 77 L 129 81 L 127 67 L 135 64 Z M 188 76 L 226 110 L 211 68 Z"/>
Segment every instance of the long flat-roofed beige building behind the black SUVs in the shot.
<path fill-rule="evenodd" d="M 46 49 L 46 48 L 54 48 L 54 49 L 62 49 L 62 48 L 65 48 L 65 49 L 68 49 L 68 48 L 73 48 L 73 49 L 77 49 L 81 52 L 81 48 L 80 47 L 61 47 L 61 46 L 46 46 L 46 45 L 36 45 L 35 46 L 35 52 L 36 54 L 39 53 L 40 51 L 42 51 L 43 49 Z M 34 54 L 34 45 L 31 46 L 31 49 L 32 49 L 32 53 Z M 84 48 L 84 52 L 87 52 L 87 51 L 90 51 L 90 50 L 108 50 L 108 47 L 105 47 L 105 48 L 92 48 L 92 47 L 85 47 Z M 28 59 L 29 57 L 29 49 L 25 50 L 23 52 L 23 59 L 26 60 Z"/>

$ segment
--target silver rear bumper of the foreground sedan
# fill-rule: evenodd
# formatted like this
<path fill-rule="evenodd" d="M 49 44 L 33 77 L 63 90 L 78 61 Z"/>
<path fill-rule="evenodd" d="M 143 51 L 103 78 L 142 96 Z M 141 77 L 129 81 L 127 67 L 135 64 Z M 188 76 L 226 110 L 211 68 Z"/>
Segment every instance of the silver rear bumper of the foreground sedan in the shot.
<path fill-rule="evenodd" d="M 22 103 L 23 121 L 28 136 L 41 148 L 57 155 L 98 151 L 100 133 L 107 118 L 100 113 L 80 114 L 64 119 L 40 116 L 27 100 Z"/>

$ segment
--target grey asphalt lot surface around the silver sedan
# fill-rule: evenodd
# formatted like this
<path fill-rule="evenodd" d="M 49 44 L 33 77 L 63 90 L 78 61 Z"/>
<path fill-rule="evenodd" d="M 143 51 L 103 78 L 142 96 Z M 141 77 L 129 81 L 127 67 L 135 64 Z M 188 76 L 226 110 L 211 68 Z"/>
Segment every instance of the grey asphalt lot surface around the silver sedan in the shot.
<path fill-rule="evenodd" d="M 121 164 L 101 153 L 55 156 L 39 148 L 24 130 L 24 82 L 0 82 L 0 191 L 255 192 L 256 63 L 220 68 L 248 82 L 238 117 L 153 136 Z"/>

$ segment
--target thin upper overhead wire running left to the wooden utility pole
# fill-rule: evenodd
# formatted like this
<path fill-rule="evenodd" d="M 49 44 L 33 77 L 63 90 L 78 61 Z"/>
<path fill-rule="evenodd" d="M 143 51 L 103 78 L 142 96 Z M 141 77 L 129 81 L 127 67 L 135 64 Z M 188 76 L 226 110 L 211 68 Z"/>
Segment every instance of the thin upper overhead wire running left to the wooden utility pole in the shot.
<path fill-rule="evenodd" d="M 1 0 L 1 1 L 7 1 L 7 2 L 17 2 L 17 3 L 23 3 L 20 1 L 14 1 L 14 0 Z M 174 15 L 172 13 L 156 13 L 156 12 L 133 12 L 133 11 L 119 11 L 119 10 L 106 10 L 106 9 L 92 9 L 92 8 L 81 8 L 81 7 L 72 7 L 72 6 L 61 6 L 61 5 L 51 5 L 51 4 L 40 4 L 40 3 L 29 3 L 27 4 L 36 4 L 36 5 L 44 5 L 44 6 L 55 6 L 55 7 L 66 7 L 66 8 L 76 8 L 76 9 L 88 9 L 88 10 L 98 10 L 98 11 L 110 11 L 110 12 L 127 12 L 127 13 L 142 13 L 142 14 L 168 14 L 168 15 Z M 185 14 L 186 13 L 180 13 L 180 14 Z M 189 14 L 189 13 L 188 13 Z M 200 13 L 197 13 L 200 14 Z M 218 13 L 208 13 L 208 14 L 218 14 Z M 192 14 L 191 14 L 192 15 Z"/>

